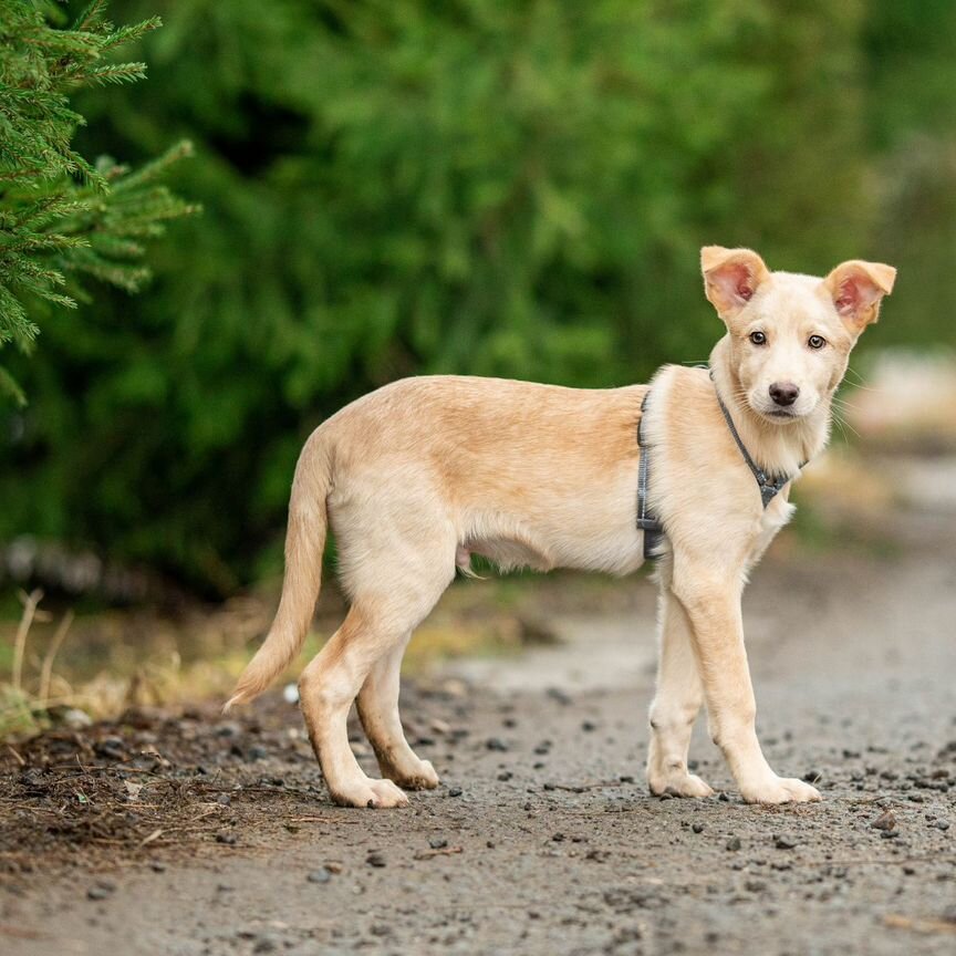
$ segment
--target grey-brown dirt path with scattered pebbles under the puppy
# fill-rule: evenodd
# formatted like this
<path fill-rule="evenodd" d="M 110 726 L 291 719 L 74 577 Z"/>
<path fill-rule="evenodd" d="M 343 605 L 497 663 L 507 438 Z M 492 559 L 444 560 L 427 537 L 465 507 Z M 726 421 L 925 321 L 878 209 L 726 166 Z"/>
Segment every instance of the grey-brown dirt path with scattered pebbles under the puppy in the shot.
<path fill-rule="evenodd" d="M 952 954 L 953 536 L 911 517 L 893 561 L 778 560 L 748 591 L 761 739 L 821 804 L 740 803 L 703 732 L 726 794 L 647 796 L 654 599 L 624 582 L 633 613 L 411 688 L 444 786 L 405 811 L 331 807 L 278 698 L 4 756 L 0 952 Z"/>

